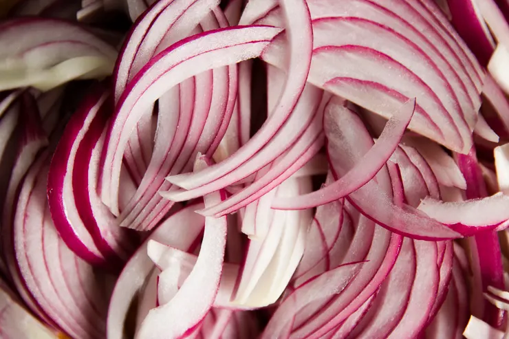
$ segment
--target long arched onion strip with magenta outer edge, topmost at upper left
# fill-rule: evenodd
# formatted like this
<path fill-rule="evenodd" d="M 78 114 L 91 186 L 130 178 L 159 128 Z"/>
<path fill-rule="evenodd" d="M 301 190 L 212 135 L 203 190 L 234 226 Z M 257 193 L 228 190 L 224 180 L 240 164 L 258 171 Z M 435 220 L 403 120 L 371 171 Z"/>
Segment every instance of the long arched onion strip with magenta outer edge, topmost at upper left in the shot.
<path fill-rule="evenodd" d="M 114 214 L 119 212 L 122 155 L 128 134 L 140 116 L 165 91 L 186 78 L 258 56 L 279 31 L 278 28 L 252 26 L 204 32 L 172 45 L 144 66 L 122 94 L 107 138 L 104 163 L 108 165 L 102 173 L 102 190 L 103 200 Z"/>

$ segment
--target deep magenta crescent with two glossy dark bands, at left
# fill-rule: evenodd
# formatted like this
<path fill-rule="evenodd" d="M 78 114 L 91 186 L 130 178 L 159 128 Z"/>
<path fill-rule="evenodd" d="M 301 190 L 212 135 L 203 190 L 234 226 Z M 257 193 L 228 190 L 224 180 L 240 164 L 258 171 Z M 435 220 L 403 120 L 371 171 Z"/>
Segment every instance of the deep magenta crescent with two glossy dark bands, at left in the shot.
<path fill-rule="evenodd" d="M 115 265 L 133 250 L 96 193 L 94 165 L 99 160 L 97 155 L 94 160 L 94 147 L 108 118 L 108 98 L 99 87 L 85 99 L 67 124 L 48 176 L 48 201 L 58 232 L 69 248 L 94 265 Z"/>

